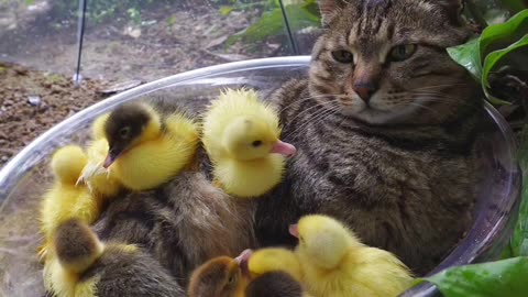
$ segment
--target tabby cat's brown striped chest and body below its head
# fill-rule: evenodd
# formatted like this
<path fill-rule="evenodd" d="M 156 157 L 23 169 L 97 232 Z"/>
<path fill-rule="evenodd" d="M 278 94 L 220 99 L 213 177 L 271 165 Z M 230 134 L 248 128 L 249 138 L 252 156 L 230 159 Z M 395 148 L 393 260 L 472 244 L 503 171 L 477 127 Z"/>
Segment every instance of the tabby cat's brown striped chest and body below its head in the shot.
<path fill-rule="evenodd" d="M 435 148 L 442 143 L 414 146 L 372 135 L 324 116 L 306 98 L 306 82 L 298 81 L 275 98 L 283 110 L 283 140 L 298 154 L 288 162 L 284 183 L 260 201 L 260 240 L 295 244 L 287 226 L 307 213 L 326 213 L 365 243 L 427 272 L 471 223 L 473 156 Z"/>

